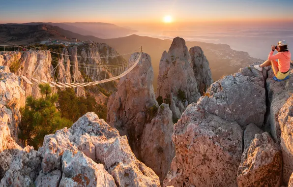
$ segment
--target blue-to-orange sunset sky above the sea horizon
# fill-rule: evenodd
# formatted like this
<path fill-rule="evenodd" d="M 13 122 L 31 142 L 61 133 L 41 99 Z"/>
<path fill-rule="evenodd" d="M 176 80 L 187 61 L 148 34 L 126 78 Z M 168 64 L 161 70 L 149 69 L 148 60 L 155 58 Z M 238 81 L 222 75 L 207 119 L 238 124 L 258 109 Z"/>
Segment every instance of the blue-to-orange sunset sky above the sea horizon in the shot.
<path fill-rule="evenodd" d="M 0 23 L 293 20 L 293 0 L 0 0 Z"/>

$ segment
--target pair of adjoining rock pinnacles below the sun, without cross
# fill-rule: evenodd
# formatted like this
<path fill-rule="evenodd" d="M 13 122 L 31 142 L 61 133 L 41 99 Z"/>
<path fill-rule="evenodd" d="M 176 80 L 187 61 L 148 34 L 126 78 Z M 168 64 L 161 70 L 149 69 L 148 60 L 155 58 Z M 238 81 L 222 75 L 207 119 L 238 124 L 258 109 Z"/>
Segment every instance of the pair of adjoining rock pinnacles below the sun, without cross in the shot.
<path fill-rule="evenodd" d="M 183 38 L 174 38 L 168 51 L 164 51 L 159 66 L 156 97 L 169 103 L 176 121 L 188 104 L 196 102 L 200 91 L 212 83 L 208 61 L 200 47 L 189 50 Z"/>

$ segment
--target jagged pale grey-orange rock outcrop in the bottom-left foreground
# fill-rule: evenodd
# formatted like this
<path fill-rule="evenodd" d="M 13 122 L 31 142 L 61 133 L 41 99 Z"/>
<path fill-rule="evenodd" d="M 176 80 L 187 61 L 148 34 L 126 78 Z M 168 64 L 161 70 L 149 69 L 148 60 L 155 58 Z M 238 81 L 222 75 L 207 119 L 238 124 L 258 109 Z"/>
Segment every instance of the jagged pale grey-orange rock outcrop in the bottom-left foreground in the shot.
<path fill-rule="evenodd" d="M 18 184 L 124 187 L 159 186 L 160 182 L 131 152 L 126 136 L 87 113 L 72 127 L 46 135 L 38 152 L 22 151 L 13 159 L 1 185 Z"/>

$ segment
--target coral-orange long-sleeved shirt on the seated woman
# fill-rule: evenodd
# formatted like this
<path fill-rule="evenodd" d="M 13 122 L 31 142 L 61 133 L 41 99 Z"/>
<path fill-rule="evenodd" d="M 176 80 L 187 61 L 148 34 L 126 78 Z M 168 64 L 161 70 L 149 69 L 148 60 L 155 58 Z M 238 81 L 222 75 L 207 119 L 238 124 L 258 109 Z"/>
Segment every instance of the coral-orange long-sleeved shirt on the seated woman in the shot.
<path fill-rule="evenodd" d="M 278 68 L 279 71 L 282 73 L 286 73 L 290 69 L 290 61 L 291 61 L 291 53 L 290 51 L 286 52 L 279 52 L 275 55 L 273 55 L 273 51 L 270 51 L 268 55 L 268 60 L 279 60 L 278 62 Z"/>

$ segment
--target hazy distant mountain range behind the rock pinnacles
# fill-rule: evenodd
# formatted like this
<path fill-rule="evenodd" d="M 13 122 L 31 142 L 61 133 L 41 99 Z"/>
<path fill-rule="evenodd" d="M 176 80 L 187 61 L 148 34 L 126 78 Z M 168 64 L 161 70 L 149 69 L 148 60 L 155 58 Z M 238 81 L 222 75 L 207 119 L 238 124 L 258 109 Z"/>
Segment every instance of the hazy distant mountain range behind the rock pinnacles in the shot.
<path fill-rule="evenodd" d="M 62 23 L 63 24 L 63 23 Z M 59 24 L 59 25 L 62 25 Z M 65 24 L 65 23 L 64 23 Z M 69 28 L 76 28 L 76 25 L 87 23 L 72 23 L 66 25 Z M 74 25 L 75 24 L 75 25 Z M 95 27 L 96 23 L 92 27 Z M 90 25 L 90 23 L 88 23 Z M 110 24 L 111 25 L 111 24 Z M 74 29 L 73 29 L 74 30 Z M 76 29 L 77 30 L 77 29 Z M 79 29 L 82 31 L 82 29 Z M 99 30 L 96 30 L 98 32 Z M 104 33 L 102 33 L 104 34 Z M 147 36 L 129 35 L 112 39 L 102 39 L 93 35 L 82 35 L 72 31 L 61 29 L 60 27 L 37 23 L 27 24 L 0 24 L 0 37 L 17 44 L 31 44 L 47 40 L 48 38 L 56 38 L 66 40 L 66 38 L 77 38 L 80 41 L 91 40 L 98 43 L 106 43 L 114 47 L 118 53 L 132 53 L 140 51 L 139 47 L 143 46 L 143 51 L 151 57 L 152 66 L 154 68 L 154 87 L 156 89 L 157 77 L 159 71 L 159 62 L 164 50 L 169 50 L 172 40 L 158 39 Z M 2 43 L 2 42 L 0 42 Z M 188 48 L 200 46 L 209 62 L 213 80 L 220 79 L 223 75 L 233 74 L 239 68 L 247 66 L 254 62 L 262 62 L 260 59 L 252 58 L 247 52 L 235 51 L 226 44 L 213 44 L 205 42 L 186 42 Z M 124 56 L 128 60 L 130 55 Z"/>

